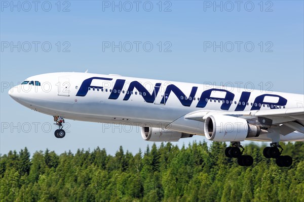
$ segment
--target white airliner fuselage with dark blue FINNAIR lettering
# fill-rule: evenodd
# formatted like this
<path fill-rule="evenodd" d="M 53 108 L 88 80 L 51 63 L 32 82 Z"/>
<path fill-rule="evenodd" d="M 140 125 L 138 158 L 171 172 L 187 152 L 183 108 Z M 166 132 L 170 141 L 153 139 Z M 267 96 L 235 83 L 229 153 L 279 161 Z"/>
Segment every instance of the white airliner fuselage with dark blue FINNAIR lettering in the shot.
<path fill-rule="evenodd" d="M 29 77 L 26 81 L 39 81 L 40 85 L 20 84 L 12 88 L 9 94 L 18 103 L 48 115 L 89 122 L 166 127 L 198 110 L 246 114 L 254 110 L 304 105 L 302 94 L 210 87 L 119 75 L 49 73 Z M 184 124 L 192 127 L 197 123 Z M 203 135 L 203 130 L 192 132 Z"/>

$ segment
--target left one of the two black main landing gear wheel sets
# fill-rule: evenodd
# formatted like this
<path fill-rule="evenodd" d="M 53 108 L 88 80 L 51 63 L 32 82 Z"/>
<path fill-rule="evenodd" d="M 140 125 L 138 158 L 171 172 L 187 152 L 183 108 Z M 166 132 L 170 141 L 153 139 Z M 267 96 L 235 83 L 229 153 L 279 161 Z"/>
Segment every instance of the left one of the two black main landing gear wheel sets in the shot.
<path fill-rule="evenodd" d="M 240 166 L 252 166 L 253 158 L 249 155 L 243 155 L 244 147 L 241 145 L 241 142 L 231 143 L 232 146 L 228 146 L 225 149 L 225 156 L 228 158 L 237 158 Z"/>

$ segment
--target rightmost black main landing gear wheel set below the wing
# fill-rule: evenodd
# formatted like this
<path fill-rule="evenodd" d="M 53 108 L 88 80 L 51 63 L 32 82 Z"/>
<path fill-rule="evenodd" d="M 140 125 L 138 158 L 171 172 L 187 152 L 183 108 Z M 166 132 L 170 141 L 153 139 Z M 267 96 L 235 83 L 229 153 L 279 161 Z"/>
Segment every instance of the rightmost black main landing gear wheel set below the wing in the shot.
<path fill-rule="evenodd" d="M 280 149 L 281 150 L 280 150 Z M 279 142 L 271 143 L 263 150 L 264 157 L 268 159 L 276 159 L 276 164 L 279 167 L 289 167 L 292 165 L 292 158 L 290 156 L 282 156 L 283 148 L 280 146 Z"/>

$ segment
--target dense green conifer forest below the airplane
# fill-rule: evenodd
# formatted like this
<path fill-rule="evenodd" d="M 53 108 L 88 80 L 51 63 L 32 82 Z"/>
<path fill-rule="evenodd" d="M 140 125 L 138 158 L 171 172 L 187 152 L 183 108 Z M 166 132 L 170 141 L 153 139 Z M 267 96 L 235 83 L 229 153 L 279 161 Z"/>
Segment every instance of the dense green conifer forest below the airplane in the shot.
<path fill-rule="evenodd" d="M 54 151 L 27 148 L 1 156 L 0 201 L 304 201 L 304 142 L 283 144 L 293 165 L 265 159 L 248 144 L 251 167 L 224 156 L 225 143 L 155 144 L 131 154 L 120 147 Z"/>

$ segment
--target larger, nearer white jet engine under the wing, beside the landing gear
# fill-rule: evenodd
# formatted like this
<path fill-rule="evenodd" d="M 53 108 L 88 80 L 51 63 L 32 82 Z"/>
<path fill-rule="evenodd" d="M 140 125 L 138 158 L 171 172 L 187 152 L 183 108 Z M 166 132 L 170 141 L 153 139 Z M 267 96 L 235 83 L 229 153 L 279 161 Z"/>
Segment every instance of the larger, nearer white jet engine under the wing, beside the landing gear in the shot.
<path fill-rule="evenodd" d="M 248 124 L 247 120 L 225 115 L 211 115 L 204 124 L 205 136 L 213 141 L 243 141 L 247 137 L 258 137 L 259 126 Z"/>

